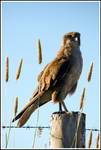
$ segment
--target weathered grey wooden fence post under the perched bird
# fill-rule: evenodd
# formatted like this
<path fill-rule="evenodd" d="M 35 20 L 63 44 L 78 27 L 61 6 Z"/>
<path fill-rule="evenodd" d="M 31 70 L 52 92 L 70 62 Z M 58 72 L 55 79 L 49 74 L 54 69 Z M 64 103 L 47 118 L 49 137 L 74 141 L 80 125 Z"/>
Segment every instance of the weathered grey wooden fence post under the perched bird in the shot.
<path fill-rule="evenodd" d="M 50 120 L 50 148 L 85 148 L 86 115 L 81 114 L 78 132 L 76 132 L 79 115 L 78 112 L 56 112 L 52 114 Z"/>

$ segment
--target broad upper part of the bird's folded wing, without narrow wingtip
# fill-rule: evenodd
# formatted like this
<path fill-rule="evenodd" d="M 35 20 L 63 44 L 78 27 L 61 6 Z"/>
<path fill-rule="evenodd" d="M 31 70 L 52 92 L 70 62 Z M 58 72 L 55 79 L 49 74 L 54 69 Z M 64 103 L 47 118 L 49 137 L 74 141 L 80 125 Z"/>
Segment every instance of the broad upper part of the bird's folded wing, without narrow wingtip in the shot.
<path fill-rule="evenodd" d="M 40 91 L 46 91 L 68 74 L 73 64 L 72 57 L 55 58 L 43 72 L 39 87 Z"/>

